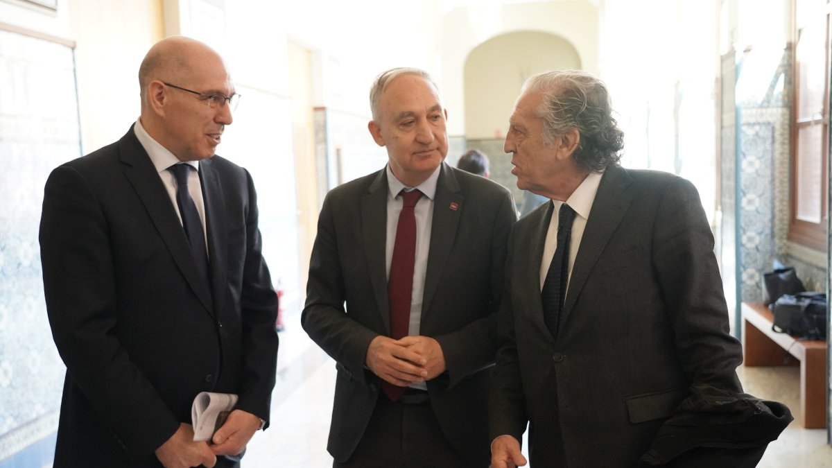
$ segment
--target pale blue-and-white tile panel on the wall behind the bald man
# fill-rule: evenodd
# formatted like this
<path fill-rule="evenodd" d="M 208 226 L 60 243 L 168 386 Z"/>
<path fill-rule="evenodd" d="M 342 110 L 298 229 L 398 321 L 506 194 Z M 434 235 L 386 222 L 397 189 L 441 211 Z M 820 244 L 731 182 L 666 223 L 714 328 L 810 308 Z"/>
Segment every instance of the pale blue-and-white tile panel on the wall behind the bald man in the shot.
<path fill-rule="evenodd" d="M 72 49 L 0 31 L 0 89 L 2 460 L 54 431 L 61 401 L 64 367 L 47 321 L 37 232 L 49 172 L 81 152 Z M 40 429 L 21 431 L 32 425 Z"/>

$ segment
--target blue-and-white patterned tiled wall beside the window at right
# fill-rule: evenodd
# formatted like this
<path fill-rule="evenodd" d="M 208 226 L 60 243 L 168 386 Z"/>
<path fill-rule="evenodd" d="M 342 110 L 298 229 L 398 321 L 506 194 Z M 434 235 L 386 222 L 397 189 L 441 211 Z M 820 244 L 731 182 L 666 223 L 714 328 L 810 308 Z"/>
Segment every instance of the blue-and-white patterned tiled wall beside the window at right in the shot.
<path fill-rule="evenodd" d="M 775 259 L 795 266 L 809 290 L 828 292 L 832 287 L 827 280 L 830 252 L 819 254 L 787 239 L 791 66 L 790 47 L 758 47 L 722 59 L 721 209 L 725 222 L 721 260 L 723 271 L 730 271 L 726 268 L 730 261 L 736 262 L 737 310 L 740 301 L 761 300 L 762 274 Z M 829 177 L 832 180 L 832 172 Z"/>

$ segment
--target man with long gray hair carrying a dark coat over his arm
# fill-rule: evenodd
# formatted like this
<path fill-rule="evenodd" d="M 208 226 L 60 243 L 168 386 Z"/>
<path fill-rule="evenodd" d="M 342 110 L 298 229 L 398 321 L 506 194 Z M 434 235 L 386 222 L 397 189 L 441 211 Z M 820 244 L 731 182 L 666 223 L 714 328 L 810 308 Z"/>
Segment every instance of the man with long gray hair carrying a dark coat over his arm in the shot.
<path fill-rule="evenodd" d="M 492 467 L 526 464 L 527 423 L 533 466 L 754 466 L 785 425 L 737 450 L 743 431 L 724 441 L 726 426 L 701 425 L 702 415 L 751 421 L 703 401 L 756 407 L 741 403 L 742 352 L 696 188 L 618 165 L 623 133 L 586 72 L 529 78 L 509 125 L 518 187 L 551 201 L 509 241 Z M 772 419 L 787 424 L 788 410 Z"/>

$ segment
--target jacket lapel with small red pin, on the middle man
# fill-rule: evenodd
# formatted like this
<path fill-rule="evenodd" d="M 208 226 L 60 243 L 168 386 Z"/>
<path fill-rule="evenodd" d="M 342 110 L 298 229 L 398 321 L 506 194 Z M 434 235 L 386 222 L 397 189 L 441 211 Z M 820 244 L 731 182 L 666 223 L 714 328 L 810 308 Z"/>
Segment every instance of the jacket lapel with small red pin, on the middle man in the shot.
<path fill-rule="evenodd" d="M 436 195 L 433 199 L 428 266 L 425 270 L 422 295 L 422 323 L 428 316 L 430 303 L 433 301 L 439 281 L 442 281 L 442 273 L 457 235 L 459 218 L 465 210 L 464 200 L 465 197 L 459 188 L 457 177 L 453 175 L 453 170 L 443 162 L 436 182 Z"/>

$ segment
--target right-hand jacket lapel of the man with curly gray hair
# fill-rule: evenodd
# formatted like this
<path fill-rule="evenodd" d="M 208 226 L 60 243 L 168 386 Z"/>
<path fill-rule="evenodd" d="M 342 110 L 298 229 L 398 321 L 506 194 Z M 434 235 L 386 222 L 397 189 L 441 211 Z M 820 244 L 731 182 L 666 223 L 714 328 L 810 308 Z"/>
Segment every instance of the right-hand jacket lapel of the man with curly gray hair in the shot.
<path fill-rule="evenodd" d="M 627 207 L 632 202 L 633 193 L 627 188 L 631 178 L 626 169 L 608 167 L 598 186 L 595 201 L 592 202 L 587 227 L 583 232 L 581 245 L 577 251 L 575 264 L 572 266 L 572 277 L 569 280 L 566 303 L 563 305 L 561 323 L 564 323 L 572 312 L 577 297 L 592 273 L 592 268 L 601 256 L 604 247 L 612 238 L 613 232 L 621 224 Z"/>

